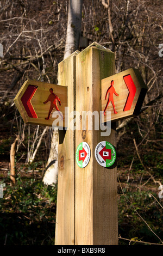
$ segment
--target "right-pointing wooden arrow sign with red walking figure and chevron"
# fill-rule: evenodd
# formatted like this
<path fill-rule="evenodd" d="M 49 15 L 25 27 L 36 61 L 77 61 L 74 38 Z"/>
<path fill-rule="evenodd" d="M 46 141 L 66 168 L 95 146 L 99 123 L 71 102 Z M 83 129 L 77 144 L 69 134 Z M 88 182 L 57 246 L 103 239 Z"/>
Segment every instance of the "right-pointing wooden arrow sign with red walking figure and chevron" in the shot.
<path fill-rule="evenodd" d="M 147 93 L 147 86 L 137 69 L 128 69 L 102 80 L 102 114 L 104 122 L 138 115 Z"/>

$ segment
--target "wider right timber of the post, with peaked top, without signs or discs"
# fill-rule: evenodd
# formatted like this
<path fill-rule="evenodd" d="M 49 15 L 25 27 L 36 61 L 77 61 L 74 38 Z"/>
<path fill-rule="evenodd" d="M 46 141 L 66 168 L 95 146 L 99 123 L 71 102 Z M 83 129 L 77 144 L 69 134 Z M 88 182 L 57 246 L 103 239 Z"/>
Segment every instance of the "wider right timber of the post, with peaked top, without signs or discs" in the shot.
<path fill-rule="evenodd" d="M 101 80 L 115 74 L 114 53 L 94 42 L 76 57 L 76 111 L 102 111 Z M 92 129 L 76 130 L 79 143 L 90 145 L 91 159 L 85 168 L 76 163 L 75 244 L 117 245 L 117 168 L 104 168 L 95 159 L 96 145 L 108 141 L 116 148 L 116 124 L 109 137 Z"/>

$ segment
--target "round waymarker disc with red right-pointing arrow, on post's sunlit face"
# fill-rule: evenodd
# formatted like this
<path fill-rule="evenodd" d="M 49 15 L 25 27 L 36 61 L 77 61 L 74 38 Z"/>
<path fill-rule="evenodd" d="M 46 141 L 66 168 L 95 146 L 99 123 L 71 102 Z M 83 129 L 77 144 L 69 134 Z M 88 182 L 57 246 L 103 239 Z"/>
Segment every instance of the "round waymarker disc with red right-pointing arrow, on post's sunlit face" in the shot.
<path fill-rule="evenodd" d="M 90 161 L 91 150 L 89 144 L 82 142 L 78 145 L 76 151 L 76 161 L 80 168 L 84 168 Z"/>

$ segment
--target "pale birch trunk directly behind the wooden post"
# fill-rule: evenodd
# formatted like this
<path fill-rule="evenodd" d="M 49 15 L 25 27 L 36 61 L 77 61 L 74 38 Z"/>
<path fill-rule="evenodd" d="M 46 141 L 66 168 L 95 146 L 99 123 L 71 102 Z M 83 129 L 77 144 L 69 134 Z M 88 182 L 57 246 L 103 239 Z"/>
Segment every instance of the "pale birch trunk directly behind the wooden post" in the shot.
<path fill-rule="evenodd" d="M 66 45 L 64 59 L 78 50 L 82 25 L 83 0 L 69 0 L 68 21 L 66 33 Z M 51 151 L 46 166 L 46 173 L 43 182 L 47 185 L 57 183 L 58 174 L 58 130 L 54 130 L 51 143 Z"/>

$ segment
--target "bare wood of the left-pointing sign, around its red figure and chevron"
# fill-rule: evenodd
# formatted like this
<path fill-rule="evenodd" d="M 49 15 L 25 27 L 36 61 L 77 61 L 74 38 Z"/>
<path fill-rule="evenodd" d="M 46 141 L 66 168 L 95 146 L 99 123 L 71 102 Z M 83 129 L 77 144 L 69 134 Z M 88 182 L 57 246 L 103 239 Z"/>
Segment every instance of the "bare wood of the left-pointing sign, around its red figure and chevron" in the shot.
<path fill-rule="evenodd" d="M 29 84 L 37 86 L 37 90 L 33 95 L 32 99 L 30 100 L 34 108 L 34 111 L 36 112 L 37 118 L 32 118 L 28 116 L 26 109 L 24 108 L 23 103 L 21 101 L 21 97 L 26 92 Z M 57 106 L 59 107 L 59 110 L 62 112 L 64 116 L 63 122 L 61 121 L 61 124 L 63 125 L 63 127 L 65 127 L 65 120 L 67 118 L 65 113 L 65 107 L 67 107 L 67 87 L 65 87 L 64 84 L 62 86 L 59 86 L 57 84 L 32 81 L 32 80 L 27 80 L 26 82 L 23 83 L 23 86 L 21 87 L 20 91 L 17 93 L 14 99 L 15 105 L 18 111 L 20 112 L 24 123 L 43 125 L 43 126 L 52 126 L 53 121 L 58 118 L 58 117 L 56 118 L 52 117 L 53 112 L 57 111 L 55 108 L 53 108 L 50 119 L 49 120 L 45 119 L 48 115 L 48 111 L 51 103 L 47 102 L 46 104 L 43 104 L 43 102 L 46 101 L 48 96 L 51 94 L 49 92 L 50 88 L 53 89 L 53 92 L 57 94 L 57 96 L 61 101 L 61 106 L 59 106 L 59 102 L 57 102 Z M 61 120 L 60 116 L 59 116 L 59 119 Z"/>

